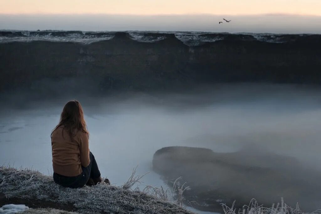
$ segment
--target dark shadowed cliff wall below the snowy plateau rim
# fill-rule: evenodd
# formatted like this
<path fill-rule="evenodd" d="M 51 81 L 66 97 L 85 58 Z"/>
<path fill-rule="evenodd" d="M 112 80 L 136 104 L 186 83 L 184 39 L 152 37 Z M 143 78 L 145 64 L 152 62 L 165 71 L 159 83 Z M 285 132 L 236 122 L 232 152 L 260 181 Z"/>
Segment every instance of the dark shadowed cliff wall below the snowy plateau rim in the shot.
<path fill-rule="evenodd" d="M 174 35 L 139 42 L 127 33 L 91 44 L 0 44 L 1 90 L 44 78 L 85 77 L 105 89 L 161 89 L 192 83 L 321 83 L 321 37 L 285 43 L 235 37 L 189 47 Z"/>

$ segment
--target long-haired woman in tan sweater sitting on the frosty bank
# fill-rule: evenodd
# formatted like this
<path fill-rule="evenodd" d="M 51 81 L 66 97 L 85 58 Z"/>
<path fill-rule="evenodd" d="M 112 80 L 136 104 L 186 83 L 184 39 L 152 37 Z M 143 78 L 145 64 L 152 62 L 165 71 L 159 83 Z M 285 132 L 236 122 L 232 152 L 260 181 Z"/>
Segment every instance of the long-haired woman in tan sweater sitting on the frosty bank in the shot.
<path fill-rule="evenodd" d="M 60 122 L 51 132 L 52 166 L 56 184 L 77 188 L 110 184 L 102 180 L 95 157 L 89 151 L 89 133 L 82 106 L 76 100 L 66 103 Z"/>

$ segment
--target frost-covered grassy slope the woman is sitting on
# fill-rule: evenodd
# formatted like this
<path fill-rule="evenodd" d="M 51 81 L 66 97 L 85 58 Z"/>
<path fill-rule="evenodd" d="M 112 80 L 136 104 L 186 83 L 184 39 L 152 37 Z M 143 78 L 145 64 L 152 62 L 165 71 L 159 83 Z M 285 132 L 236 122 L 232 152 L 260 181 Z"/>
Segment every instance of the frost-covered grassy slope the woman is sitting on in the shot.
<path fill-rule="evenodd" d="M 52 176 L 22 168 L 0 167 L 0 192 L 7 198 L 72 203 L 82 213 L 192 213 L 174 203 L 130 188 L 105 184 L 64 188 L 55 184 Z"/>

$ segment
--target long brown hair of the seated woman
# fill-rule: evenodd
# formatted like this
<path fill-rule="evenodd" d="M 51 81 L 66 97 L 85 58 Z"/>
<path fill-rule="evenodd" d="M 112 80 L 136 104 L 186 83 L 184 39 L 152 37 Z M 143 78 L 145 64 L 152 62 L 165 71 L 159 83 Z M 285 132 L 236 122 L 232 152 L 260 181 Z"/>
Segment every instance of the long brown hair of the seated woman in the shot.
<path fill-rule="evenodd" d="M 77 100 L 71 100 L 66 103 L 61 112 L 58 125 L 51 132 L 51 138 L 52 134 L 61 126 L 63 127 L 62 132 L 64 133 L 64 130 L 66 130 L 72 141 L 74 141 L 74 136 L 78 131 L 86 133 L 89 138 L 86 121 L 83 118 L 82 106 Z"/>

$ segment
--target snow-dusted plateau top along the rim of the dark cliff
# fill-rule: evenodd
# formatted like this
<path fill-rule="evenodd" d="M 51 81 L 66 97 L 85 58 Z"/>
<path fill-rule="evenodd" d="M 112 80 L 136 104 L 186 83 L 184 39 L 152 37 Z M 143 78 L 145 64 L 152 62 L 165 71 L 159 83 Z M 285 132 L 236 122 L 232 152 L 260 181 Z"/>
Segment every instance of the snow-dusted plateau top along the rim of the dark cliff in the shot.
<path fill-rule="evenodd" d="M 258 41 L 270 43 L 284 43 L 293 41 L 296 37 L 312 34 L 273 34 L 273 33 L 226 33 L 226 32 L 191 32 L 191 31 L 124 31 L 129 33 L 132 39 L 140 42 L 156 42 L 166 38 L 167 34 L 174 34 L 188 46 L 197 46 L 205 42 L 223 40 L 228 35 L 250 35 Z M 7 42 L 31 42 L 31 41 L 56 41 L 56 42 L 80 42 L 90 44 L 102 40 L 109 40 L 115 36 L 115 31 L 7 31 L 0 30 L 0 43 Z M 247 39 L 236 37 L 236 39 Z"/>

